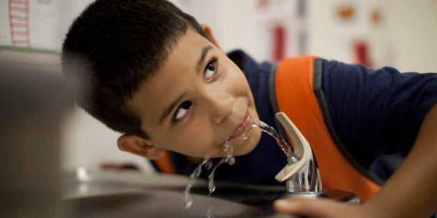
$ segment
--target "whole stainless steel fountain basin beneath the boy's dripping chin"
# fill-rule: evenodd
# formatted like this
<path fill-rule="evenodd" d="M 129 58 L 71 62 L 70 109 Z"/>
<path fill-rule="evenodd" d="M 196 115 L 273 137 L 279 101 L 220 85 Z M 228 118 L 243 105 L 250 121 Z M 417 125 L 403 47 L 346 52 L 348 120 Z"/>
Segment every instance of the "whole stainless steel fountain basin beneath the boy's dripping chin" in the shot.
<path fill-rule="evenodd" d="M 198 180 L 185 210 L 185 176 L 80 168 L 64 178 L 65 217 L 269 217 L 271 203 L 285 190 L 218 182 L 209 194 L 206 181 Z"/>

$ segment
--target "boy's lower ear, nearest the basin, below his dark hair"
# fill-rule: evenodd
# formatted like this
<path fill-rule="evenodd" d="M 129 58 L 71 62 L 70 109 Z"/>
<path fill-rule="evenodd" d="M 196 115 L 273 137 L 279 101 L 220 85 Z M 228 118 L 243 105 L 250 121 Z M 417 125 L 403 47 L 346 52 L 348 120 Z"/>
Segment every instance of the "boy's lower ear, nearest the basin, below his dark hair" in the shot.
<path fill-rule="evenodd" d="M 165 149 L 157 146 L 150 140 L 145 140 L 136 135 L 122 135 L 117 140 L 118 149 L 155 160 L 164 156 Z"/>

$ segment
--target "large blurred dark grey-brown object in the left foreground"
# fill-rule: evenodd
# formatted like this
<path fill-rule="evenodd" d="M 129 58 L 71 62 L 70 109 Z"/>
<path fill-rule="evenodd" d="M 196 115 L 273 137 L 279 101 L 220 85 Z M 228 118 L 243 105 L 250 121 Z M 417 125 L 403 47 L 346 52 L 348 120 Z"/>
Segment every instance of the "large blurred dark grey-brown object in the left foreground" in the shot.
<path fill-rule="evenodd" d="M 59 217 L 60 126 L 73 100 L 58 67 L 14 60 L 0 58 L 0 217 Z"/>

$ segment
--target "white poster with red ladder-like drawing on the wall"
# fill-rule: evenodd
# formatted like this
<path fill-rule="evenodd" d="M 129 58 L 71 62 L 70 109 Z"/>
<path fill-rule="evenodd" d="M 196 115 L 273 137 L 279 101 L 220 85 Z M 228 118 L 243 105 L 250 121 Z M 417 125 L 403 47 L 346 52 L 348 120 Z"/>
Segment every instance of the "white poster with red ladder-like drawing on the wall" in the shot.
<path fill-rule="evenodd" d="M 58 0 L 0 1 L 0 46 L 61 49 Z"/>

